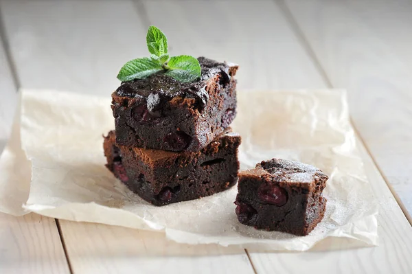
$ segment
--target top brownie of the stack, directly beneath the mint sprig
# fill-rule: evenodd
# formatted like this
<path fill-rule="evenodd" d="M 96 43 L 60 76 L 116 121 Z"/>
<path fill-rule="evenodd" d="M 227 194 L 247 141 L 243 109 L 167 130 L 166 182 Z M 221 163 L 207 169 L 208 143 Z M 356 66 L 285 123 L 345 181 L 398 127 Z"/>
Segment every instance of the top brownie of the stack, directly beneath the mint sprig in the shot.
<path fill-rule="evenodd" d="M 238 65 L 204 57 L 201 78 L 183 83 L 159 72 L 122 82 L 112 94 L 117 144 L 199 151 L 236 116 Z"/>

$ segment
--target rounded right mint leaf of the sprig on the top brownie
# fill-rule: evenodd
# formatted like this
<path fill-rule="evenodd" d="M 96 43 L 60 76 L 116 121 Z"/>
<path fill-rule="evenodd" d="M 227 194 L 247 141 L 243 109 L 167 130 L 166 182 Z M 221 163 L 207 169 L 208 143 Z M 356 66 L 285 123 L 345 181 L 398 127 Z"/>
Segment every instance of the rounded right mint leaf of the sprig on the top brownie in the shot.
<path fill-rule="evenodd" d="M 201 77 L 201 65 L 192 56 L 180 55 L 170 58 L 166 74 L 181 82 L 192 82 Z"/>

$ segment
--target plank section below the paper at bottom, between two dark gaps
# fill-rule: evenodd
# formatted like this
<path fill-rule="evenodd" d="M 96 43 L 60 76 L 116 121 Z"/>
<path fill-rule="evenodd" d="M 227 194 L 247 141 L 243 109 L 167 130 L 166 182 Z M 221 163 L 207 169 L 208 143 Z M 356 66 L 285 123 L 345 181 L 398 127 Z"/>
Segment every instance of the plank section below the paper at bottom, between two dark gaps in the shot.
<path fill-rule="evenodd" d="M 244 249 L 190 246 L 163 233 L 60 220 L 73 273 L 253 273 Z"/>

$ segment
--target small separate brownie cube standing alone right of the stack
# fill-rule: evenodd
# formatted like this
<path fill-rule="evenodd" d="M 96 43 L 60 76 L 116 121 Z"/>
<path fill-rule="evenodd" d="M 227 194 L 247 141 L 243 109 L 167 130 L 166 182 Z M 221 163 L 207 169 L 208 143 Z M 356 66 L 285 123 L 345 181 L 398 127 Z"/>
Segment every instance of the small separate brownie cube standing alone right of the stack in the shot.
<path fill-rule="evenodd" d="M 328 176 L 305 163 L 271 159 L 240 172 L 238 220 L 255 229 L 308 235 L 325 214 Z"/>

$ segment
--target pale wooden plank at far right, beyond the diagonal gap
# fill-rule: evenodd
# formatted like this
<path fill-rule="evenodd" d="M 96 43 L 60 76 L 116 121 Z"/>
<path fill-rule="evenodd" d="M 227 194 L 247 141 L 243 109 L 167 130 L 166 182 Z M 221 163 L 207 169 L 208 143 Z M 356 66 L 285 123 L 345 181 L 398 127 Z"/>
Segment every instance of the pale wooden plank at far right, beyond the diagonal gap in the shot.
<path fill-rule="evenodd" d="M 412 2 L 286 3 L 412 223 Z"/>

